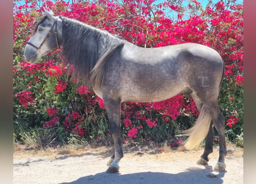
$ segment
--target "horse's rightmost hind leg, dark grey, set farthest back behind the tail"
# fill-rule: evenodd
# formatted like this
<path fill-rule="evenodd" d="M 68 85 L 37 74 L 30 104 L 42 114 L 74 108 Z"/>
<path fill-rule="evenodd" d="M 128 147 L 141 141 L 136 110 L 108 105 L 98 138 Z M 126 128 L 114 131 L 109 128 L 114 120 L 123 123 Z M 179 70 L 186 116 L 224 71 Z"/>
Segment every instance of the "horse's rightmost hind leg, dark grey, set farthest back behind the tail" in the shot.
<path fill-rule="evenodd" d="M 214 167 L 215 171 L 224 171 L 226 168 L 225 164 L 225 156 L 227 155 L 227 148 L 225 143 L 225 118 L 223 114 L 220 112 L 219 104 L 216 101 L 211 104 L 204 104 L 207 109 L 209 115 L 212 118 L 212 122 L 214 127 L 216 128 L 219 134 L 219 161 Z"/>

